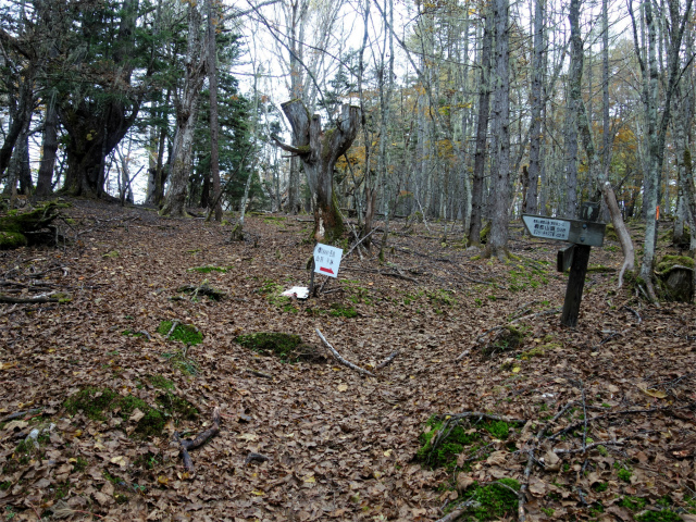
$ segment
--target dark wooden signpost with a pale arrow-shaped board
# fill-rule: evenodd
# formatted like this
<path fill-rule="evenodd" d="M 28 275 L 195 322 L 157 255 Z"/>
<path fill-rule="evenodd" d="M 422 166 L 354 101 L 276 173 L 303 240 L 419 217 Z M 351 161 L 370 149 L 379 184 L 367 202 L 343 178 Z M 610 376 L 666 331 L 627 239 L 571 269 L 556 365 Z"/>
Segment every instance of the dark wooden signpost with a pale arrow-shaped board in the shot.
<path fill-rule="evenodd" d="M 589 250 L 592 247 L 601 247 L 606 227 L 606 224 L 596 222 L 599 216 L 599 203 L 583 203 L 580 216 L 580 220 L 561 220 L 545 215 L 522 215 L 524 226 L 532 236 L 572 244 L 559 250 L 556 258 L 559 272 L 570 269 L 561 324 L 572 328 L 577 325 Z"/>

